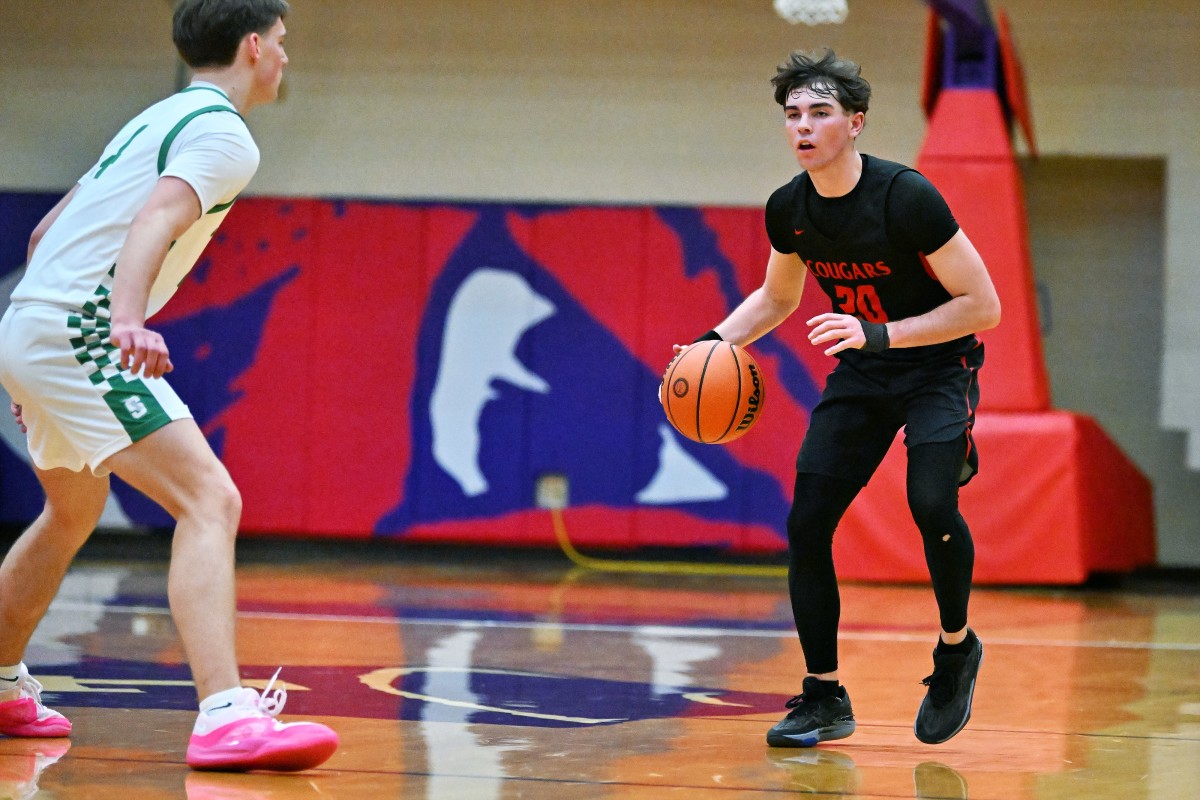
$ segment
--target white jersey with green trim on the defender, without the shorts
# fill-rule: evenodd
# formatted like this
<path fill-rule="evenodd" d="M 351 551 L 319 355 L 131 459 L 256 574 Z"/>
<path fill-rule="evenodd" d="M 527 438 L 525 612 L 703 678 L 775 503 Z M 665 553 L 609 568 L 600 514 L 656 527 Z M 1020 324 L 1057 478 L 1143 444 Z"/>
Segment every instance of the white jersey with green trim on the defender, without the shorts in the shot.
<path fill-rule="evenodd" d="M 60 306 L 107 319 L 116 257 L 158 179 L 179 178 L 203 213 L 167 253 L 150 289 L 149 319 L 199 259 L 258 169 L 258 146 L 229 98 L 196 82 L 138 114 L 79 179 L 79 191 L 38 242 L 12 303 Z"/>

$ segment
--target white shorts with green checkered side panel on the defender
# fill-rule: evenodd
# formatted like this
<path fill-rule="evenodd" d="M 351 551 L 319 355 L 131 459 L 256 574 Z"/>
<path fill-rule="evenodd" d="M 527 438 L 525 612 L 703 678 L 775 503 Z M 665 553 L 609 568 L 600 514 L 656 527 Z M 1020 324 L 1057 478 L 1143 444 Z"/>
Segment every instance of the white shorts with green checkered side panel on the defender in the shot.
<path fill-rule="evenodd" d="M 0 319 L 0 384 L 22 407 L 40 469 L 84 467 L 192 413 L 162 378 L 121 371 L 108 320 L 56 306 L 8 307 Z"/>

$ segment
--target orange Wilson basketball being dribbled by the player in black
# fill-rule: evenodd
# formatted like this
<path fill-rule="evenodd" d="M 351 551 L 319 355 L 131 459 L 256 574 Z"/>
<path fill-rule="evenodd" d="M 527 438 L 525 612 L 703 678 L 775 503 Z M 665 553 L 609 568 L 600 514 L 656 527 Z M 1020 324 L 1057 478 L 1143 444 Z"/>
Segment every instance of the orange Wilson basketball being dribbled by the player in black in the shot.
<path fill-rule="evenodd" d="M 662 374 L 659 401 L 676 431 L 706 445 L 733 441 L 762 414 L 758 365 L 732 342 L 697 342 Z"/>

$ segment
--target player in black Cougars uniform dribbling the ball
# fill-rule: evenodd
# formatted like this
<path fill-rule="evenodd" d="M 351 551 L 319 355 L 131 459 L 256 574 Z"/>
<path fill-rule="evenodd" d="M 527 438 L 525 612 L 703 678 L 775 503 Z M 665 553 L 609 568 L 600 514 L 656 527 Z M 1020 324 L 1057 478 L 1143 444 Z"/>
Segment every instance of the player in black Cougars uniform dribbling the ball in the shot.
<path fill-rule="evenodd" d="M 768 333 L 799 306 L 809 272 L 833 301 L 808 320 L 809 341 L 838 366 L 809 420 L 787 517 L 788 591 L 808 674 L 767 742 L 810 747 L 854 730 L 838 680 L 833 535 L 901 427 L 908 506 L 941 622 L 914 732 L 942 742 L 971 716 L 983 657 L 967 627 L 974 546 L 958 495 L 978 468 L 971 426 L 983 344 L 974 333 L 1000 323 L 1000 300 L 932 184 L 858 152 L 871 88 L 857 64 L 829 50 L 793 53 L 772 83 L 803 172 L 767 201 L 762 287 L 697 339 L 745 345 Z"/>

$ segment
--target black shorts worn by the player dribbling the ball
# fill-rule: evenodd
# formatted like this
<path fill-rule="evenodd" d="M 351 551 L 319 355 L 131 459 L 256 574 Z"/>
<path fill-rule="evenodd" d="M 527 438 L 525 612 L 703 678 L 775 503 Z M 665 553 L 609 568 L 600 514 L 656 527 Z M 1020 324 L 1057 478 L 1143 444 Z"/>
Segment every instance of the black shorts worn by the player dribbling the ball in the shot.
<path fill-rule="evenodd" d="M 863 356 L 841 359 L 829 373 L 809 417 L 797 471 L 865 486 L 904 427 L 907 447 L 965 437 L 959 486 L 974 477 L 979 457 L 971 428 L 979 404 L 983 343 L 966 355 L 919 362 Z"/>

